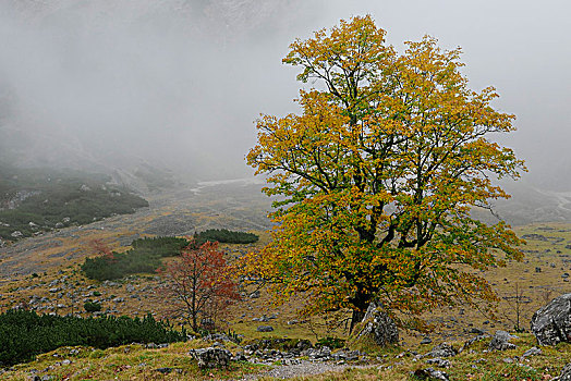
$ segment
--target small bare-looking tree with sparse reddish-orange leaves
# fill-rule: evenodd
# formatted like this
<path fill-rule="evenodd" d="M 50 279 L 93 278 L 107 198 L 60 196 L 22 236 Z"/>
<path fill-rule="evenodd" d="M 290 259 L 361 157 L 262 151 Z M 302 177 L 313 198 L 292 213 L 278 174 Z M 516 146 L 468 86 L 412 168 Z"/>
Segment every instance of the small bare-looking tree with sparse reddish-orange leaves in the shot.
<path fill-rule="evenodd" d="M 240 299 L 236 282 L 217 242 L 198 247 L 191 242 L 180 257 L 158 272 L 167 281 L 162 296 L 169 302 L 169 314 L 184 315 L 195 332 L 199 328 L 198 318 L 214 319 Z"/>

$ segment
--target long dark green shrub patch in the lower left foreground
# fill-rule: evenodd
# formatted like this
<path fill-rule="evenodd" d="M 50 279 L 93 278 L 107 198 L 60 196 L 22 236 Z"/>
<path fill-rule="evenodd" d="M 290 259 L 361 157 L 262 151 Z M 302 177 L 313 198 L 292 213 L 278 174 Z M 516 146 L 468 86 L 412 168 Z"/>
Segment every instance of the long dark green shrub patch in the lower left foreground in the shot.
<path fill-rule="evenodd" d="M 0 315 L 0 366 L 31 361 L 60 346 L 85 345 L 105 349 L 129 343 L 172 343 L 186 332 L 156 321 L 129 317 L 80 318 L 9 310 Z"/>

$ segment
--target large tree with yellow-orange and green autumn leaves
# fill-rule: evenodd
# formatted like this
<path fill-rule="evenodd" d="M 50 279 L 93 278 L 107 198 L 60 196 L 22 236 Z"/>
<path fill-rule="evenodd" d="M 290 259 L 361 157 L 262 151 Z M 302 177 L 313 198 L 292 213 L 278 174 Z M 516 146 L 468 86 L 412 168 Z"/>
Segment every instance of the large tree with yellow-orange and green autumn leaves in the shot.
<path fill-rule="evenodd" d="M 356 16 L 290 46 L 283 62 L 313 87 L 299 114 L 257 121 L 247 161 L 280 197 L 248 269 L 281 298 L 306 292 L 307 314 L 350 308 L 355 320 L 376 300 L 403 324 L 496 298 L 478 272 L 521 259 L 520 239 L 470 212 L 509 197 L 494 180 L 525 168 L 490 139 L 514 115 L 491 106 L 493 87 L 469 88 L 460 48 L 426 36 L 399 53 L 385 34 Z"/>

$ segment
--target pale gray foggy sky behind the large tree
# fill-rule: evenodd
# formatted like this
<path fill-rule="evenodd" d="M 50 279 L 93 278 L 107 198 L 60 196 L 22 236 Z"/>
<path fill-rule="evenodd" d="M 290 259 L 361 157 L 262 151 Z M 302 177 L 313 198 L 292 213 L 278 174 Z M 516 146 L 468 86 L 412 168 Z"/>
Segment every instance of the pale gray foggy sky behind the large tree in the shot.
<path fill-rule="evenodd" d="M 530 179 L 571 187 L 563 0 L 0 0 L 0 101 L 10 103 L 0 128 L 12 138 L 0 149 L 25 134 L 40 137 L 32 150 L 42 162 L 76 149 L 243 176 L 257 115 L 295 110 L 288 45 L 366 13 L 398 49 L 425 34 L 462 47 L 471 87 L 496 86 L 496 106 L 517 114 L 502 143 Z"/>

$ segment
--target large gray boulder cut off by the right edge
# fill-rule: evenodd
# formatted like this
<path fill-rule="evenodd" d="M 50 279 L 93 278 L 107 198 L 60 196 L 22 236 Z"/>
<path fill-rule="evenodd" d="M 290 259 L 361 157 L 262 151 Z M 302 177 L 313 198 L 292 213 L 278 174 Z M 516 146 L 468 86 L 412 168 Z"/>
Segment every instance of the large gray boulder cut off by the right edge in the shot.
<path fill-rule="evenodd" d="M 531 329 L 539 345 L 571 342 L 571 293 L 538 309 L 532 317 Z"/>

